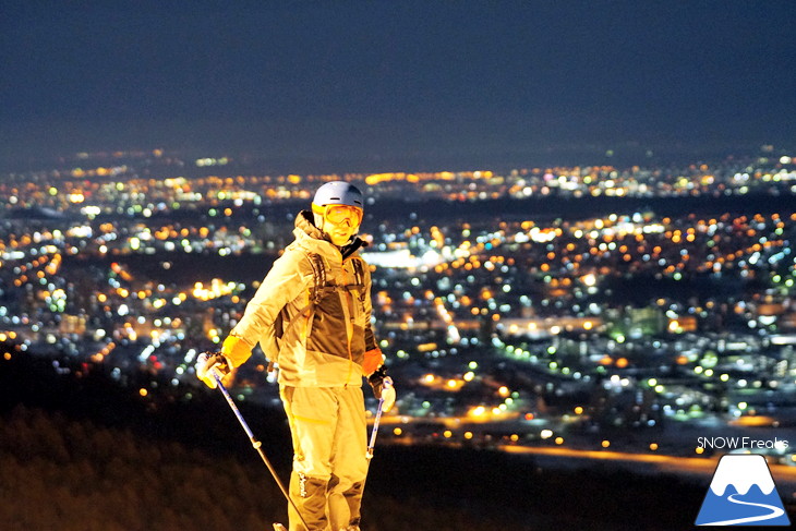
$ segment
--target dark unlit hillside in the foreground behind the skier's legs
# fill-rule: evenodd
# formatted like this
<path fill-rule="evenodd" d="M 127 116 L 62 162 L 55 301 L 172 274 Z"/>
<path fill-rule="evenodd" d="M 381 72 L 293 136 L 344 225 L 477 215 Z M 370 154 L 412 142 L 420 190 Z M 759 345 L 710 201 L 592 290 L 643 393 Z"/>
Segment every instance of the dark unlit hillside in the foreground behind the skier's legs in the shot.
<path fill-rule="evenodd" d="M 281 494 L 224 399 L 194 394 L 142 398 L 99 372 L 57 375 L 50 360 L 0 358 L 3 529 L 262 531 L 285 521 Z M 287 478 L 284 413 L 243 414 Z M 379 446 L 363 530 L 690 529 L 703 495 L 670 476 Z"/>

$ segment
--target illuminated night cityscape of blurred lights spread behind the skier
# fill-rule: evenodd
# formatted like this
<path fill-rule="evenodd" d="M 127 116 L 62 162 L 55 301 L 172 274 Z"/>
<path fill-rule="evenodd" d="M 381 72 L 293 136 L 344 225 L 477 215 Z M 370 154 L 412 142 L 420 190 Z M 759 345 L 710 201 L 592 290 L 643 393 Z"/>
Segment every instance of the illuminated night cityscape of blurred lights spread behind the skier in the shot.
<path fill-rule="evenodd" d="M 276 177 L 232 174 L 234 162 L 81 154 L 3 176 L 5 359 L 50 357 L 121 386 L 145 372 L 137 393 L 153 403 L 206 393 L 195 357 L 226 337 L 292 216 L 334 177 L 367 191 L 374 326 L 399 388 L 382 443 L 700 458 L 717 451 L 705 437 L 793 430 L 787 155 Z M 240 400 L 279 403 L 266 364 L 240 370 Z M 794 467 L 793 448 L 763 451 Z"/>

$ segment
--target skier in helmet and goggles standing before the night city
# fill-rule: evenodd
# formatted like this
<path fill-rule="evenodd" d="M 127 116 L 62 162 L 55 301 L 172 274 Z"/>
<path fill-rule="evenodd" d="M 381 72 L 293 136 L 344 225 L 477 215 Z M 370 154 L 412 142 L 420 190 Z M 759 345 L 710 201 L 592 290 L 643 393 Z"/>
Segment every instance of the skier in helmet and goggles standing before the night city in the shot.
<path fill-rule="evenodd" d="M 257 342 L 266 354 L 278 352 L 276 360 L 269 355 L 279 367 L 293 444 L 290 531 L 359 530 L 369 464 L 362 377 L 384 398 L 385 411 L 395 403 L 371 328 L 371 275 L 358 255 L 365 244 L 357 237 L 363 212 L 362 193 L 352 184 L 318 188 L 312 209 L 296 218 L 296 240 L 221 351 L 203 354 L 196 365 L 200 379 L 215 388 L 214 370 L 227 374 L 240 366 Z"/>

